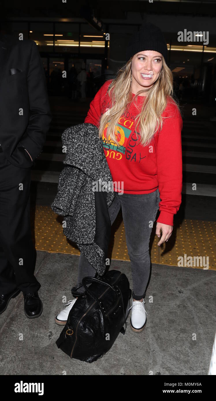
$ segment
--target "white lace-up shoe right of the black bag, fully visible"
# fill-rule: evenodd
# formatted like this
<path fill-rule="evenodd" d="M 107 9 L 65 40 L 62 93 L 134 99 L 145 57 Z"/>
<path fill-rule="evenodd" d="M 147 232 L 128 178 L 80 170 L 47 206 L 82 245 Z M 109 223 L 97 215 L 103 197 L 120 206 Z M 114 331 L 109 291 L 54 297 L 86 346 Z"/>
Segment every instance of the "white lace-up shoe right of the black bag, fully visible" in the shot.
<path fill-rule="evenodd" d="M 132 301 L 130 327 L 136 333 L 140 333 L 144 330 L 147 322 L 147 312 L 145 311 L 145 301 Z"/>

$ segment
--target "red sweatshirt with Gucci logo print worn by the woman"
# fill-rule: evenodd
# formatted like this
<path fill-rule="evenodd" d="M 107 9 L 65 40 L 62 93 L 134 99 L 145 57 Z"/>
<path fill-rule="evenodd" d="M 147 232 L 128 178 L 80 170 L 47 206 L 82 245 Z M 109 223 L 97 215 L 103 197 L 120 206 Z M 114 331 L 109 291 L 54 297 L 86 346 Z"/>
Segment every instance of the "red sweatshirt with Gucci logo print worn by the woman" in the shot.
<path fill-rule="evenodd" d="M 99 127 L 100 116 L 111 105 L 107 89 L 112 79 L 106 81 L 90 103 L 84 123 Z M 134 97 L 135 95 L 132 94 Z M 144 97 L 139 96 L 138 106 Z M 137 109 L 130 103 L 127 113 L 118 122 L 118 145 L 106 138 L 103 133 L 104 153 L 112 175 L 114 190 L 126 194 L 148 194 L 159 188 L 159 217 L 157 222 L 173 225 L 173 215 L 181 205 L 182 191 L 182 118 L 176 105 L 170 101 L 162 114 L 165 119 L 161 132 L 155 134 L 149 146 L 136 144 L 134 118 Z M 137 127 L 139 133 L 139 126 Z"/>

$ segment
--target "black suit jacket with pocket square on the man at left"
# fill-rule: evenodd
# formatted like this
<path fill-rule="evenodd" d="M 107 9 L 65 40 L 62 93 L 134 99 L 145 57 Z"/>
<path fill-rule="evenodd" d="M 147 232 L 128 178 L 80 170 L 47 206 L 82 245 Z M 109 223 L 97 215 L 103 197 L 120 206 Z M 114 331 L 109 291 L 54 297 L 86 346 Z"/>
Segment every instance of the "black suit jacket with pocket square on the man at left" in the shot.
<path fill-rule="evenodd" d="M 51 119 L 36 43 L 0 33 L 0 145 L 10 163 L 24 168 L 33 165 Z"/>

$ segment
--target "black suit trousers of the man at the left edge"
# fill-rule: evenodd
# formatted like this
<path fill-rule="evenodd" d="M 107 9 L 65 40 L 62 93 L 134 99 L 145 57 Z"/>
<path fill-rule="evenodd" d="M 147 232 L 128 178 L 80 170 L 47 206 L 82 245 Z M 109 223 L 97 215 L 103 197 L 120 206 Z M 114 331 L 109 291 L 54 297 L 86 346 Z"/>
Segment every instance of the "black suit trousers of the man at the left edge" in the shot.
<path fill-rule="evenodd" d="M 0 147 L 0 293 L 39 290 L 30 225 L 31 168 L 15 167 Z"/>

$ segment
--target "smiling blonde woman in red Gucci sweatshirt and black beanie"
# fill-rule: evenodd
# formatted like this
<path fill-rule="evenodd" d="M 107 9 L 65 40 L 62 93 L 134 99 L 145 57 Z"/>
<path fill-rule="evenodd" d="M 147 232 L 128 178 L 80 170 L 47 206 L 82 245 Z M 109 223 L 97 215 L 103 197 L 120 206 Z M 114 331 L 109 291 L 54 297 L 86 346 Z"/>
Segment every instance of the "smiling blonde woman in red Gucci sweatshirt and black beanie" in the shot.
<path fill-rule="evenodd" d="M 141 332 L 147 321 L 144 298 L 153 223 L 159 209 L 160 246 L 170 238 L 173 215 L 181 204 L 182 118 L 173 99 L 173 76 L 165 62 L 167 45 L 161 30 L 153 24 L 143 26 L 127 55 L 117 77 L 96 93 L 84 122 L 98 126 L 103 138 L 115 191 L 108 209 L 111 224 L 122 207 L 133 280 L 130 326 Z M 81 253 L 78 283 L 85 276 L 94 277 L 95 270 Z M 57 324 L 66 324 L 75 301 L 57 315 Z"/>

